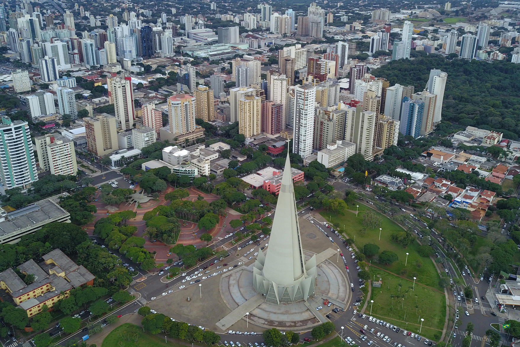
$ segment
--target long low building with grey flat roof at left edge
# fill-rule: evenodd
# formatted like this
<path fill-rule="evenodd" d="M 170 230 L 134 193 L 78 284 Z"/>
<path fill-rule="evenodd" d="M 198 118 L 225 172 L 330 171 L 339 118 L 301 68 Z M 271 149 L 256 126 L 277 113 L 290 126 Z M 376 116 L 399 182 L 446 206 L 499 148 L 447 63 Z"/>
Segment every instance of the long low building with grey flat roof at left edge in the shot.
<path fill-rule="evenodd" d="M 48 223 L 70 223 L 70 213 L 58 205 L 57 199 L 58 195 L 9 213 L 0 208 L 0 243 L 16 243 L 23 235 L 34 233 Z"/>

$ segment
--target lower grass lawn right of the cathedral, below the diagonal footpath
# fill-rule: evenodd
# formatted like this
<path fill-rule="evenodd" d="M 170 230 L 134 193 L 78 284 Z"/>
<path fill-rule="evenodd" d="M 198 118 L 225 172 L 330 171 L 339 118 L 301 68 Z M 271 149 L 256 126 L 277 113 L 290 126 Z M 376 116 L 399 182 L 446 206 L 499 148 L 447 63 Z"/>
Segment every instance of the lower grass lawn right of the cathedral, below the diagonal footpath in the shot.
<path fill-rule="evenodd" d="M 413 281 L 390 275 L 373 266 L 370 267 L 370 273 L 372 279 L 374 276 L 376 279 L 378 276 L 383 279 L 381 288 L 372 287 L 372 316 L 413 333 L 419 332 L 420 319 L 423 318 L 421 336 L 439 340 L 446 317 L 444 292 L 420 286 L 417 281 L 412 291 Z M 400 289 L 399 284 L 402 285 Z M 365 313 L 370 313 L 370 303 Z"/>

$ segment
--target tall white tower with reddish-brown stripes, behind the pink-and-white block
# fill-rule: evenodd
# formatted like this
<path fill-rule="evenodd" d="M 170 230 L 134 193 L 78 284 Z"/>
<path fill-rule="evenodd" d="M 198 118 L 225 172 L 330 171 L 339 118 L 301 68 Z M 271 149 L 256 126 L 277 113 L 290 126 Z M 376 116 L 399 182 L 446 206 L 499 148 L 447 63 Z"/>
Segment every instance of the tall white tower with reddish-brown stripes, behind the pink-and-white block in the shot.
<path fill-rule="evenodd" d="M 108 97 L 114 104 L 115 119 L 123 131 L 134 127 L 135 110 L 132 79 L 116 76 L 107 79 Z"/>

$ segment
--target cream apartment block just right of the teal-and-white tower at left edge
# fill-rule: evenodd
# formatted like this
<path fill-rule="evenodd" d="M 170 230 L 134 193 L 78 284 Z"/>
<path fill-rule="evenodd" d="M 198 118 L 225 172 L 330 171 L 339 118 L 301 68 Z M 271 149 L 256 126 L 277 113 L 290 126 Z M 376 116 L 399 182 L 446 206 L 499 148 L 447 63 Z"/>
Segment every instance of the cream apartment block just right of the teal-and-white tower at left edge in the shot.
<path fill-rule="evenodd" d="M 75 176 L 77 173 L 74 142 L 60 134 L 36 137 L 38 165 L 51 175 Z"/>

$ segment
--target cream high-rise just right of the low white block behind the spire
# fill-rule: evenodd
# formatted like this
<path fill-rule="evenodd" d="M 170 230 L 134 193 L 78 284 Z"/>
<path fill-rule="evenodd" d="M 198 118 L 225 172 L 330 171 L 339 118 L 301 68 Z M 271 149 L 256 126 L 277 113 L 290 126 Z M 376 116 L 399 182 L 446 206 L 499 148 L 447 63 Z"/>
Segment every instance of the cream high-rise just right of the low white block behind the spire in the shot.
<path fill-rule="evenodd" d="M 356 151 L 365 160 L 371 160 L 375 125 L 378 117 L 373 111 L 363 111 L 362 106 L 345 109 L 345 140 L 356 144 Z"/>

